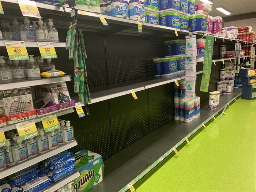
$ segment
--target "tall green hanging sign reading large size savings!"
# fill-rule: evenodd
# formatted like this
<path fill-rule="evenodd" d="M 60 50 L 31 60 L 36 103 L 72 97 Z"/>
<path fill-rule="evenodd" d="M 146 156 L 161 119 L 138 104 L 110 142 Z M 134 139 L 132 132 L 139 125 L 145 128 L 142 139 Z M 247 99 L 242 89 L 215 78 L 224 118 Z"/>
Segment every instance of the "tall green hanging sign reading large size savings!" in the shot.
<path fill-rule="evenodd" d="M 204 49 L 204 67 L 203 76 L 200 86 L 200 91 L 208 92 L 211 76 L 211 63 L 212 63 L 212 51 L 213 51 L 213 35 L 207 35 Z"/>

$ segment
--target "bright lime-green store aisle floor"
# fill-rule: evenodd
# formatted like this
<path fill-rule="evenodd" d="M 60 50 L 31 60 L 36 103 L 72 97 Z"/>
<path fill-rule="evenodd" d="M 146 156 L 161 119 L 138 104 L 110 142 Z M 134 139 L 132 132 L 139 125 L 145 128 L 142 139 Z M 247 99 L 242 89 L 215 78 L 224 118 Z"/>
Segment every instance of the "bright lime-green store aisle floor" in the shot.
<path fill-rule="evenodd" d="M 138 181 L 136 191 L 255 192 L 256 100 L 238 99 L 226 113 Z"/>

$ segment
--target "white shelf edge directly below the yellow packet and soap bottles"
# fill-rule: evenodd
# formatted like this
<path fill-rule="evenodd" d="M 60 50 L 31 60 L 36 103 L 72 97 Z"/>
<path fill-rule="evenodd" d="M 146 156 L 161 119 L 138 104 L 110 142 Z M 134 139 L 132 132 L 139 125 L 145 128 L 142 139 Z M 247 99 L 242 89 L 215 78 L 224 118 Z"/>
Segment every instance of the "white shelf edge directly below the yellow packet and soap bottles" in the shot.
<path fill-rule="evenodd" d="M 0 90 L 26 87 L 26 85 L 31 87 L 31 86 L 37 86 L 42 84 L 59 83 L 64 81 L 71 81 L 71 77 L 69 75 L 64 75 L 64 76 L 54 77 L 54 78 L 41 78 L 37 80 L 25 80 L 20 82 L 13 81 L 10 83 L 0 84 Z"/>

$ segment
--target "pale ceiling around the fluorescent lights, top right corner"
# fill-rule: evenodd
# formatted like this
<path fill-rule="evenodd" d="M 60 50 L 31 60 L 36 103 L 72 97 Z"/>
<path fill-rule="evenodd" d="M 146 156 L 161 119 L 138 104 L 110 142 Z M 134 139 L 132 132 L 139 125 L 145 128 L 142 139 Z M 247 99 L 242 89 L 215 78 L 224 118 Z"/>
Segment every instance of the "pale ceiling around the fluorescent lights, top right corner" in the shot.
<path fill-rule="evenodd" d="M 209 12 L 211 16 L 232 16 L 240 15 L 251 12 L 256 12 L 256 0 L 210 0 L 213 4 L 212 11 Z M 195 4 L 203 3 L 200 0 L 195 0 Z M 216 10 L 217 6 L 221 6 L 223 9 L 229 11 L 231 15 L 225 15 L 222 12 Z M 256 16 L 255 16 L 256 17 Z"/>

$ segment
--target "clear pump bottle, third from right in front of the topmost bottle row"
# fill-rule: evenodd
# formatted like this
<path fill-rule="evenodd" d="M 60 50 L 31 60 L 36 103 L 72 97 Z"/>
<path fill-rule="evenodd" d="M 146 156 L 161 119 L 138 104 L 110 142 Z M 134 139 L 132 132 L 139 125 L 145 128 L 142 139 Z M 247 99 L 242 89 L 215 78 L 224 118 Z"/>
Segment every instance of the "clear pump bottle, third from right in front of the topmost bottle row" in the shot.
<path fill-rule="evenodd" d="M 30 20 L 27 17 L 22 17 L 24 24 L 20 27 L 20 35 L 22 41 L 37 41 L 35 34 L 35 28 L 30 24 Z"/>

